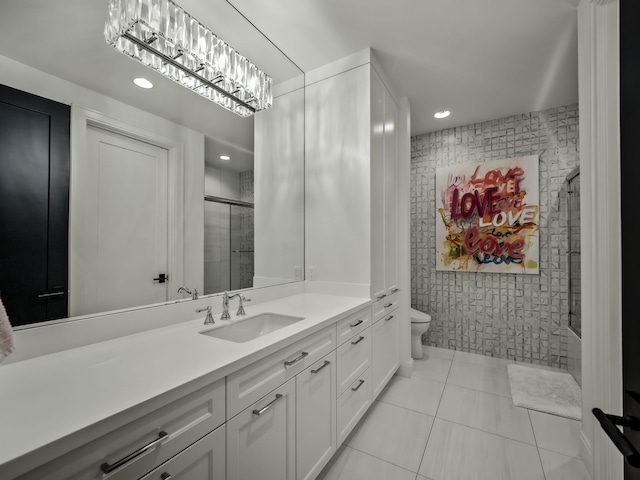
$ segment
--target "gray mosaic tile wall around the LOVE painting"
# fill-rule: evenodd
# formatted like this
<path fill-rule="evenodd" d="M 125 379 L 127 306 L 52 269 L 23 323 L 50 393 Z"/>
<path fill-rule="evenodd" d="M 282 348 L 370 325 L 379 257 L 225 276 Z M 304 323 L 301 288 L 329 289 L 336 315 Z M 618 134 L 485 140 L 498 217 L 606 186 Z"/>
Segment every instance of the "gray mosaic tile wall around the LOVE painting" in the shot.
<path fill-rule="evenodd" d="M 540 156 L 540 274 L 435 269 L 438 167 Z M 567 367 L 566 176 L 578 165 L 578 106 L 411 138 L 411 303 L 431 315 L 424 343 Z"/>

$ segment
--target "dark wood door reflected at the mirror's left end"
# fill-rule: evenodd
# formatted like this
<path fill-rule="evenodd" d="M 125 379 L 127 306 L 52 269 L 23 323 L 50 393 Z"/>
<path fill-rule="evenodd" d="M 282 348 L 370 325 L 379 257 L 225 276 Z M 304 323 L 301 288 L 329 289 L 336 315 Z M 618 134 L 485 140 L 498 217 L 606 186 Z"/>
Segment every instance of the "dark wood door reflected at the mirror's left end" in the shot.
<path fill-rule="evenodd" d="M 14 326 L 67 316 L 70 107 L 0 85 L 0 298 Z"/>

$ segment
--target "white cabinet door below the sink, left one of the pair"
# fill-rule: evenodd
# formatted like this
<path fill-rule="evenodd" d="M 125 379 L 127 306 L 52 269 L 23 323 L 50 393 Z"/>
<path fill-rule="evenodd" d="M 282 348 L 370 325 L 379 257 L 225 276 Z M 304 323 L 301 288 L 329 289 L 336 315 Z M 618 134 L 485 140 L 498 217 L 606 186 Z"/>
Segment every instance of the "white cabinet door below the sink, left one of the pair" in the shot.
<path fill-rule="evenodd" d="M 227 479 L 294 480 L 296 380 L 227 422 Z"/>

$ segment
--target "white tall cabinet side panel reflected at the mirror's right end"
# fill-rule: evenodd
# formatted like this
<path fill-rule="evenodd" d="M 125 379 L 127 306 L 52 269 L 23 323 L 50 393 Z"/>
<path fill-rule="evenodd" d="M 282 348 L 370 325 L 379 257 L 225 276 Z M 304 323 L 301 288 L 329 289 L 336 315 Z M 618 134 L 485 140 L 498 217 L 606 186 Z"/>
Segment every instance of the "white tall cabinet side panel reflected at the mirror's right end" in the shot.
<path fill-rule="evenodd" d="M 304 111 L 298 89 L 255 116 L 254 286 L 303 279 Z"/>

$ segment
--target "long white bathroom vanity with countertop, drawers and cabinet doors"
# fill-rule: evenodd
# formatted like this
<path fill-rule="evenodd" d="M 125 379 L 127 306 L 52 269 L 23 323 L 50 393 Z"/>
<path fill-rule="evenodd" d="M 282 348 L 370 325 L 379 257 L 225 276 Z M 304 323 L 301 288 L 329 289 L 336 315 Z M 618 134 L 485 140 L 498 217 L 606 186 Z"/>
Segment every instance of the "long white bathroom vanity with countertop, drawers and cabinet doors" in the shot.
<path fill-rule="evenodd" d="M 0 478 L 315 478 L 399 366 L 380 303 L 304 293 L 7 365 Z M 301 320 L 209 335 L 260 314 Z"/>

